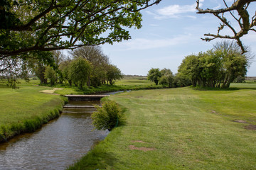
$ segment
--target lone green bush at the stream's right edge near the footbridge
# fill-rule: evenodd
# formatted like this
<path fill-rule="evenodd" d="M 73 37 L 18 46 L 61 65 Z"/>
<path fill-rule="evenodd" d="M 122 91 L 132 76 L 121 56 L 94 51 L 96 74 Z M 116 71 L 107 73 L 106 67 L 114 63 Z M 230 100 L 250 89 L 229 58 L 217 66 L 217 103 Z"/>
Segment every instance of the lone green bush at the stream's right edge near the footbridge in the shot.
<path fill-rule="evenodd" d="M 92 124 L 97 130 L 112 130 L 122 120 L 121 109 L 114 101 L 103 101 L 102 107 L 95 106 L 97 111 L 92 113 Z"/>

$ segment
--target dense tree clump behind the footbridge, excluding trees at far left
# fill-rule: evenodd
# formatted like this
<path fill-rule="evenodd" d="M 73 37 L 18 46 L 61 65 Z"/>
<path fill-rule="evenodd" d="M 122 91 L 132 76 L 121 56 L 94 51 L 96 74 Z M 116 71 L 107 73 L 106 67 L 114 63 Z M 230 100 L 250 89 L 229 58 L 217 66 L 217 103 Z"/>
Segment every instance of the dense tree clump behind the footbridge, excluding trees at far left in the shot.
<path fill-rule="evenodd" d="M 120 69 L 110 64 L 107 55 L 104 55 L 99 46 L 83 46 L 70 52 L 71 57 L 64 57 L 60 52 L 54 54 L 57 69 L 38 63 L 37 67 L 44 69 L 38 70 L 36 76 L 39 77 L 42 84 L 63 84 L 78 86 L 101 86 L 102 84 L 113 84 L 114 80 L 122 79 L 123 75 Z M 42 72 L 43 71 L 43 72 Z"/>

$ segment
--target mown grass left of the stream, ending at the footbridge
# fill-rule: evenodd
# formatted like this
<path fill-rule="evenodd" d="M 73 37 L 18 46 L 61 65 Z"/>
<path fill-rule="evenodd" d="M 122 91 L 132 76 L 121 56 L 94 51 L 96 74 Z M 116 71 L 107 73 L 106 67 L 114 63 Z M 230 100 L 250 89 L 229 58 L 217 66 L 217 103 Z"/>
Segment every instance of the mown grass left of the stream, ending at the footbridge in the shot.
<path fill-rule="evenodd" d="M 53 89 L 21 81 L 19 89 L 0 86 L 0 134 L 6 139 L 21 132 L 33 132 L 58 117 L 65 98 L 39 91 Z M 0 137 L 0 141 L 4 141 Z"/>

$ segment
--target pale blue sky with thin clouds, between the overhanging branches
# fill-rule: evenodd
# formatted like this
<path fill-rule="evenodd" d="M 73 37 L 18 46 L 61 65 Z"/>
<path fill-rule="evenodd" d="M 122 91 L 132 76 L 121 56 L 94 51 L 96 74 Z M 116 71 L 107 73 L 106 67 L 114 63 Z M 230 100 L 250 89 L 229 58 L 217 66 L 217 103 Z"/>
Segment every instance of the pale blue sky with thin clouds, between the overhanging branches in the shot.
<path fill-rule="evenodd" d="M 230 4 L 233 0 L 226 1 Z M 102 50 L 126 75 L 146 76 L 151 68 L 167 68 L 175 74 L 184 57 L 206 52 L 221 41 L 201 40 L 205 33 L 217 33 L 220 21 L 213 14 L 196 13 L 195 8 L 196 0 L 162 0 L 142 11 L 142 28 L 130 29 L 132 39 L 102 45 Z M 201 0 L 201 8 L 224 8 L 223 0 Z M 248 10 L 255 13 L 255 8 L 252 3 Z M 230 31 L 223 30 L 225 33 Z M 242 42 L 256 54 L 255 32 L 245 35 Z M 256 77 L 256 58 L 247 76 Z"/>

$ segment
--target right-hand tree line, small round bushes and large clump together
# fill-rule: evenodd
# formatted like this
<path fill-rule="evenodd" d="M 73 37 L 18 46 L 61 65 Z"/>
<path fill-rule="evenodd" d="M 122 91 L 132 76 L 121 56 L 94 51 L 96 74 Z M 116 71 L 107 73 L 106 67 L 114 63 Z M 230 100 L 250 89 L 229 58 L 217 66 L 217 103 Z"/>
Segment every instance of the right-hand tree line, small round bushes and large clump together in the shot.
<path fill-rule="evenodd" d="M 230 83 L 245 79 L 252 58 L 250 52 L 241 55 L 240 47 L 234 41 L 217 42 L 212 50 L 186 56 L 175 75 L 170 69 L 152 68 L 147 76 L 156 85 L 169 87 L 193 85 L 228 88 Z"/>

